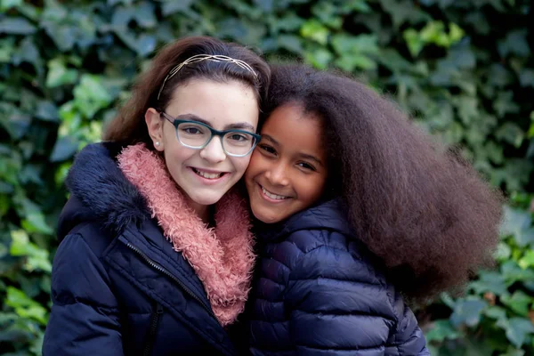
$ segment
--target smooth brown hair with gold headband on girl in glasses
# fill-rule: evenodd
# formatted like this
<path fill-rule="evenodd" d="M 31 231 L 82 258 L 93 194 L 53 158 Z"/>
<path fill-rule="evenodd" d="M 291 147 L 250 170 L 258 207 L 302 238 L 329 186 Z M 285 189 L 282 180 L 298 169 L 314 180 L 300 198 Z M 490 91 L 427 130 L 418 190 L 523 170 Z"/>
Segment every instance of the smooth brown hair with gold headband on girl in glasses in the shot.
<path fill-rule="evenodd" d="M 246 62 L 254 71 L 239 67 L 235 63 L 223 61 L 201 61 L 183 67 L 174 77 L 166 81 L 162 93 L 158 93 L 164 79 L 171 69 L 182 61 L 197 55 L 224 55 L 235 60 Z M 102 138 L 105 141 L 119 142 L 130 145 L 145 142 L 151 148 L 151 141 L 144 114 L 147 109 L 158 111 L 166 109 L 172 100 L 174 89 L 185 85 L 192 78 L 210 79 L 217 82 L 238 80 L 253 89 L 258 105 L 264 98 L 271 70 L 259 55 L 251 50 L 232 43 L 225 43 L 207 36 L 190 36 L 172 44 L 167 44 L 152 60 L 150 69 L 142 73 L 135 81 L 132 96 L 119 110 L 107 126 Z"/>

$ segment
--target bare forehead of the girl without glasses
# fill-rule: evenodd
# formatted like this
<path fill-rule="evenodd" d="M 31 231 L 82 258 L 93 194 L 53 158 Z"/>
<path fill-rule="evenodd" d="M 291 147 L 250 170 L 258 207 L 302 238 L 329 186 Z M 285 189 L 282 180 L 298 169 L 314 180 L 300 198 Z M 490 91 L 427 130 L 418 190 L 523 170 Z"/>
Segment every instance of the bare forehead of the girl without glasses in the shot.
<path fill-rule="evenodd" d="M 320 117 L 304 112 L 299 105 L 288 104 L 272 111 L 262 134 L 278 142 L 279 150 L 324 158 Z"/>

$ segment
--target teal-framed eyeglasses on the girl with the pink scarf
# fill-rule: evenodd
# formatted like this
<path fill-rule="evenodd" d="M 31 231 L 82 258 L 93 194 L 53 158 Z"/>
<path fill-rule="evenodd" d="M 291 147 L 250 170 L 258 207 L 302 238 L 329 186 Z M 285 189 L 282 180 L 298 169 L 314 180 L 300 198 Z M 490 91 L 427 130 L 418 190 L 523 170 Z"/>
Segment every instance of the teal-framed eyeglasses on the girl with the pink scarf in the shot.
<path fill-rule="evenodd" d="M 159 114 L 174 125 L 176 137 L 182 146 L 190 149 L 204 149 L 215 135 L 221 138 L 223 151 L 226 155 L 245 157 L 255 149 L 255 145 L 262 138 L 259 134 L 253 134 L 244 130 L 218 131 L 198 121 L 179 120 L 163 111 Z"/>

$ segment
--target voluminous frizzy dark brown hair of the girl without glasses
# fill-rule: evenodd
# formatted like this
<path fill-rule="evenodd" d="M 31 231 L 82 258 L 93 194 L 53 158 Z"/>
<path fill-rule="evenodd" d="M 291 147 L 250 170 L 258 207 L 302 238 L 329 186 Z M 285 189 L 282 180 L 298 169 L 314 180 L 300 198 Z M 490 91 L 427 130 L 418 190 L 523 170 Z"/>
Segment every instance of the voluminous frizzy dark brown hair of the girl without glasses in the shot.
<path fill-rule="evenodd" d="M 356 238 L 401 292 L 420 301 L 491 263 L 503 199 L 469 164 L 352 78 L 302 65 L 271 71 L 264 116 L 297 103 L 320 117 L 326 193 L 343 198 Z"/>

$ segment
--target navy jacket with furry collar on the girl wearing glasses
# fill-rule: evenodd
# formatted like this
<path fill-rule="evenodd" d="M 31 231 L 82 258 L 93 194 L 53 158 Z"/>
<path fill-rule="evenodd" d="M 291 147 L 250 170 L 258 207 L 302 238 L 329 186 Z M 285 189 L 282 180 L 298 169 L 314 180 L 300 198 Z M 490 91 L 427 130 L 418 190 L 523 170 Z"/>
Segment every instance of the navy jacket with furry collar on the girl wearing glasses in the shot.
<path fill-rule="evenodd" d="M 150 219 L 111 144 L 76 158 L 44 356 L 236 354 L 195 271 Z"/>

